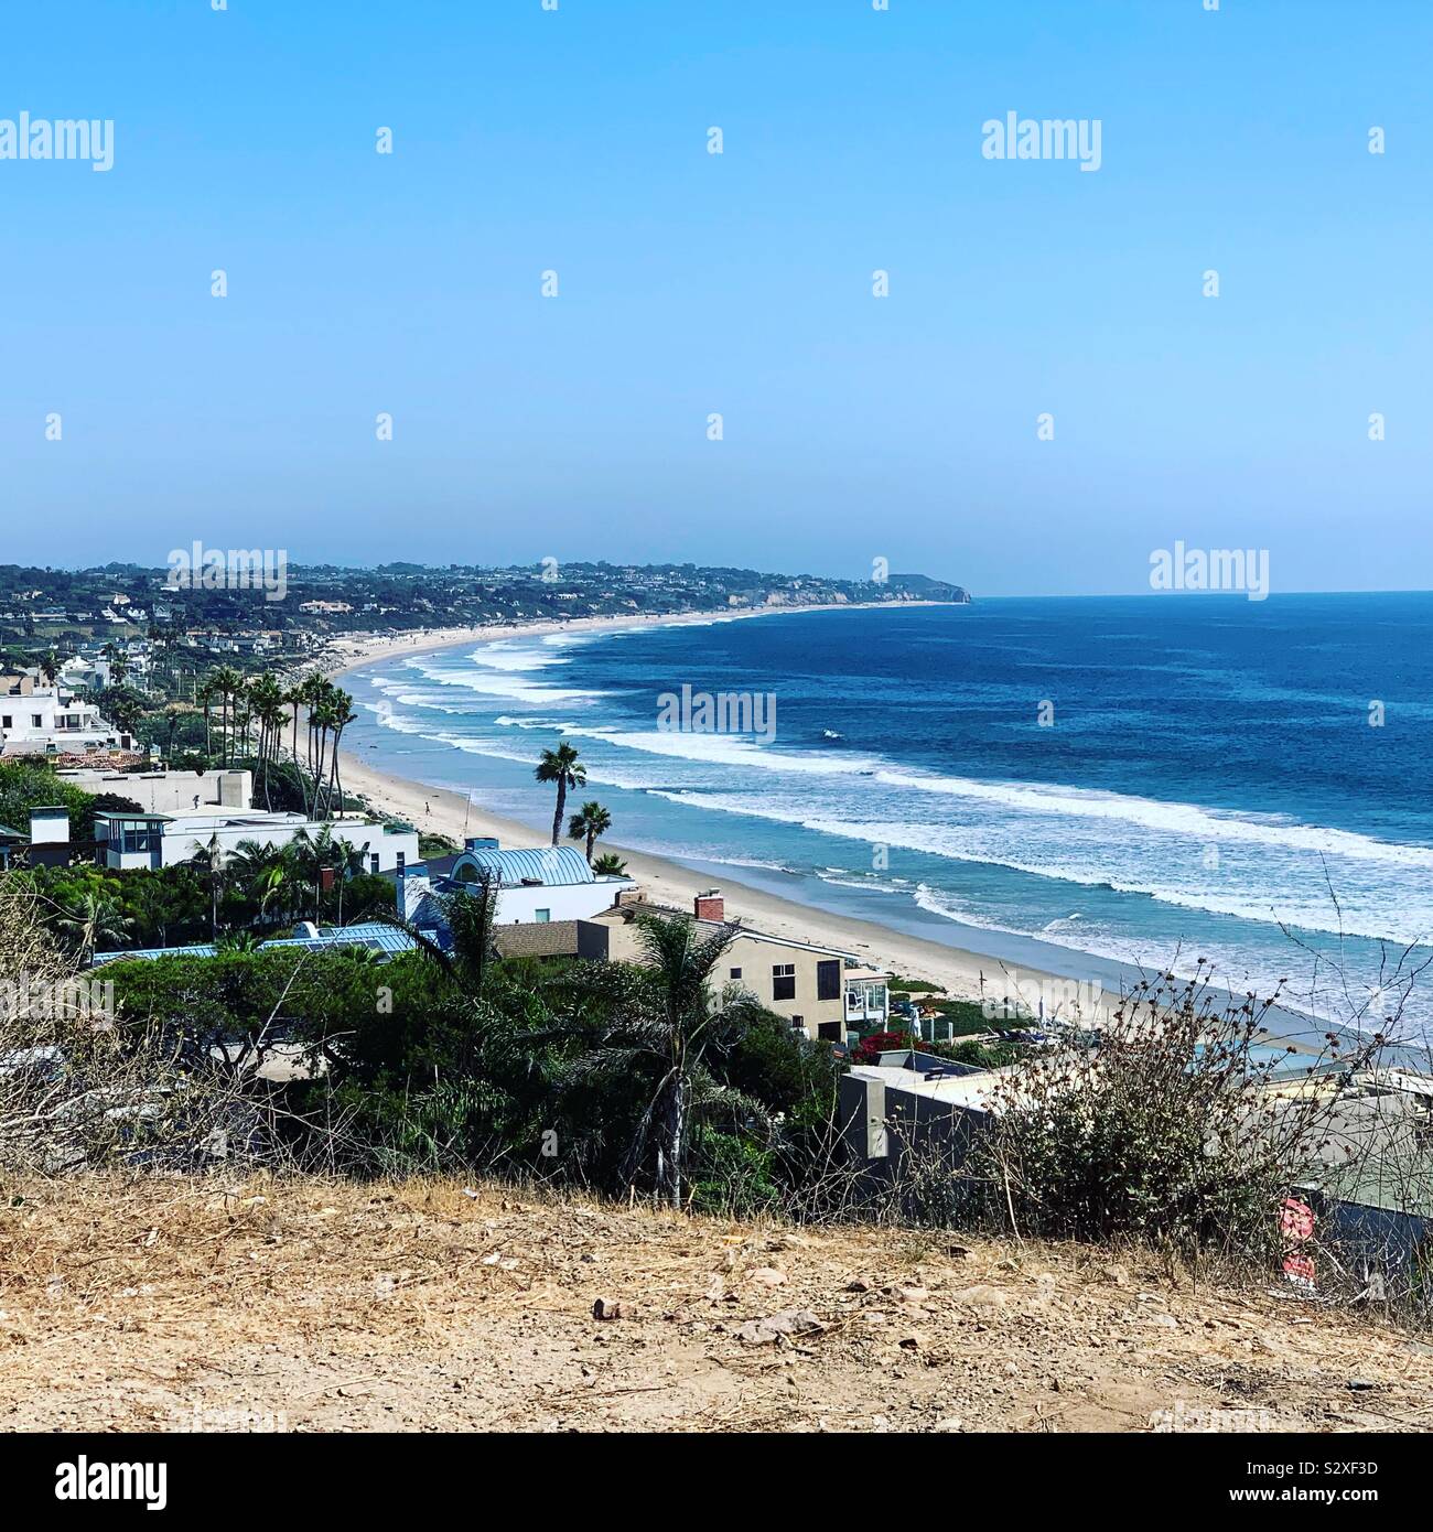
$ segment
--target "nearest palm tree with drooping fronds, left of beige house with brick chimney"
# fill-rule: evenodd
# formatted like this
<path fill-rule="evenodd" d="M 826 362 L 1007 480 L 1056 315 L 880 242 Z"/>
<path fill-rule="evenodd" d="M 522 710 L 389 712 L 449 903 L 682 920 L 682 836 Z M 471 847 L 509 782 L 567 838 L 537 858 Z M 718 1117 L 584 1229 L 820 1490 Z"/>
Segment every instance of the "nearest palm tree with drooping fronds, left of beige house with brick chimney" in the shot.
<path fill-rule="evenodd" d="M 722 1085 L 705 1062 L 708 1054 L 730 1051 L 762 1008 L 746 991 L 714 999 L 708 987 L 736 935 L 733 927 L 700 938 L 687 916 L 639 915 L 635 924 L 639 962 L 654 970 L 651 999 L 642 1003 L 628 997 L 631 1010 L 619 1016 L 595 1051 L 570 1066 L 569 1079 L 613 1085 L 645 1080 L 650 1095 L 622 1158 L 622 1175 L 628 1186 L 635 1184 L 653 1154 L 657 1195 L 680 1207 L 693 1115 L 720 1108 L 746 1120 L 766 1117 L 760 1103 Z M 610 982 L 604 965 L 596 965 L 585 982 L 593 990 Z"/>

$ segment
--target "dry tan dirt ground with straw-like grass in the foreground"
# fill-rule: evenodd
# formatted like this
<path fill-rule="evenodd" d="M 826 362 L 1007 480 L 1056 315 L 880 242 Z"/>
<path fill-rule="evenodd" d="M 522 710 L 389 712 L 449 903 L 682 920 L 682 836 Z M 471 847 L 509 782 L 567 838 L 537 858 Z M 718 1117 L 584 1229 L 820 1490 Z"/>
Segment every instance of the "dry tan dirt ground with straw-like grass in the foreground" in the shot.
<path fill-rule="evenodd" d="M 438 1181 L 3 1204 L 8 1431 L 1433 1428 L 1433 1344 L 1068 1249 Z"/>

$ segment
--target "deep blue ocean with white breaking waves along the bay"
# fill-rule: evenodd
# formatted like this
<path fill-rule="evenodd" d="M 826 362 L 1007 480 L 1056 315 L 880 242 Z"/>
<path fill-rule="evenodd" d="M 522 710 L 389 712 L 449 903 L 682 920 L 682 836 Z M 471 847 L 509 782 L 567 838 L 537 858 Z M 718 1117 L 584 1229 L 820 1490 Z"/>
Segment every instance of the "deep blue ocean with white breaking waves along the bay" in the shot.
<path fill-rule="evenodd" d="M 539 832 L 562 737 L 615 841 L 714 876 L 1056 973 L 1205 959 L 1366 1030 L 1433 1023 L 1399 977 L 1433 959 L 1433 594 L 717 617 L 345 685 L 363 760 Z M 746 732 L 661 726 L 720 694 Z"/>

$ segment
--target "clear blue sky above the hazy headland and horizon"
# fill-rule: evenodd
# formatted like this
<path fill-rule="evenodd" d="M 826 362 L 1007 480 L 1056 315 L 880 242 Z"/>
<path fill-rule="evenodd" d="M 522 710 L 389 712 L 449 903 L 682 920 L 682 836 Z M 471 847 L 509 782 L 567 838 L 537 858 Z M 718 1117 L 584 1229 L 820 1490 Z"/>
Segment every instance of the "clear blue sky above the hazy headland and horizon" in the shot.
<path fill-rule="evenodd" d="M 1427 585 L 1430 44 L 1427 0 L 12 6 L 0 119 L 115 165 L 0 161 L 0 561 Z M 1012 110 L 1100 170 L 982 158 Z"/>

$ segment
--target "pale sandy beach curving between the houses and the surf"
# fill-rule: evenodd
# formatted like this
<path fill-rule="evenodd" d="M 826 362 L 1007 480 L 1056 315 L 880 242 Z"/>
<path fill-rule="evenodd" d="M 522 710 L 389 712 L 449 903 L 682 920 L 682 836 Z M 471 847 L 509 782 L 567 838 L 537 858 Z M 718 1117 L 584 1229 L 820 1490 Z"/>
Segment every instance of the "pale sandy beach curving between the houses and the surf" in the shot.
<path fill-rule="evenodd" d="M 910 605 L 918 605 L 912 602 Z M 420 654 L 429 650 L 458 643 L 481 643 L 498 637 L 535 637 L 556 631 L 596 631 L 674 622 L 711 622 L 751 619 L 779 611 L 823 611 L 828 607 L 768 607 L 719 613 L 691 613 L 677 617 L 590 617 L 572 622 L 533 622 L 521 627 L 483 628 L 435 628 L 398 637 L 354 637 L 333 645 L 325 673 L 339 679 L 349 671 L 374 660 L 394 659 L 402 654 Z M 835 608 L 840 610 L 840 608 Z M 520 823 L 490 813 L 477 801 L 469 803 L 463 794 L 409 781 L 392 772 L 380 771 L 345 749 L 343 784 L 351 792 L 362 794 L 374 807 L 415 824 L 432 835 L 446 835 L 461 844 L 466 835 L 490 835 L 504 847 L 543 846 L 550 835 L 552 809 L 547 789 L 533 783 L 532 823 Z M 546 820 L 546 823 L 544 823 Z M 602 850 L 616 852 L 627 863 L 627 870 L 657 904 L 690 910 L 697 892 L 711 889 L 713 878 L 694 872 L 679 863 L 647 852 L 625 847 L 621 836 L 604 836 Z M 812 942 L 852 953 L 903 977 L 924 979 L 959 999 L 978 1000 L 984 996 L 1002 997 L 1008 990 L 1005 977 L 1008 965 L 990 954 L 947 947 L 903 931 L 890 930 L 869 921 L 851 919 L 828 910 L 817 910 L 792 899 L 768 893 L 743 884 L 730 873 L 722 875 L 720 887 L 726 896 L 728 918 L 783 936 L 791 941 Z M 1050 979 L 1054 984 L 1067 980 L 1042 974 L 1027 965 L 1019 967 L 1022 985 L 1031 980 Z"/>

